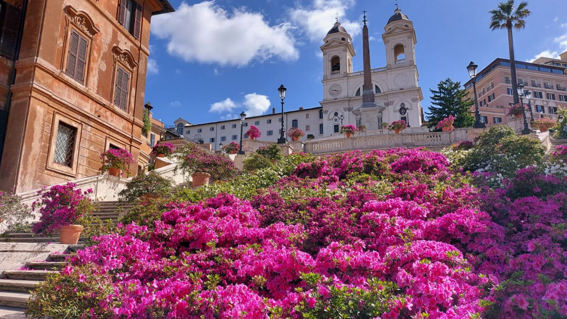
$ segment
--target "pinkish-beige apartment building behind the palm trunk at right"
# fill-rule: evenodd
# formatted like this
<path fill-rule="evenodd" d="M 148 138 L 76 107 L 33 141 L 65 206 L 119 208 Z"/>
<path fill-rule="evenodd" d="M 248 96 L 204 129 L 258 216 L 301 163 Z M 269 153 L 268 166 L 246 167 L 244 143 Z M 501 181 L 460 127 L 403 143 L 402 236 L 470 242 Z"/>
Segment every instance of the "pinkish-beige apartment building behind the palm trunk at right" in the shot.
<path fill-rule="evenodd" d="M 531 111 L 536 119 L 541 115 L 554 118 L 557 108 L 567 107 L 567 52 L 560 57 L 561 60 L 539 58 L 533 63 L 516 61 L 518 82 L 523 83 L 524 91 L 531 92 Z M 477 74 L 481 120 L 488 125 L 505 121 L 507 107 L 514 103 L 510 60 L 497 58 Z M 474 98 L 472 79 L 464 86 L 469 97 Z M 523 102 L 528 104 L 525 96 Z M 526 116 L 529 121 L 529 112 Z"/>

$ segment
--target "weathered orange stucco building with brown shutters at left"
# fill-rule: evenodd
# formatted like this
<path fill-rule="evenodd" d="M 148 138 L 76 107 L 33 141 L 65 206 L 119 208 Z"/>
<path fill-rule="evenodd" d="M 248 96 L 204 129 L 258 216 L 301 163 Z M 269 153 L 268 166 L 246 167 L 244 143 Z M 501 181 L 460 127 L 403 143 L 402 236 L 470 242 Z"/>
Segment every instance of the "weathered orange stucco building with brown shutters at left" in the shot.
<path fill-rule="evenodd" d="M 149 161 L 150 20 L 172 11 L 167 0 L 0 0 L 0 190 L 96 175 L 113 147 Z"/>

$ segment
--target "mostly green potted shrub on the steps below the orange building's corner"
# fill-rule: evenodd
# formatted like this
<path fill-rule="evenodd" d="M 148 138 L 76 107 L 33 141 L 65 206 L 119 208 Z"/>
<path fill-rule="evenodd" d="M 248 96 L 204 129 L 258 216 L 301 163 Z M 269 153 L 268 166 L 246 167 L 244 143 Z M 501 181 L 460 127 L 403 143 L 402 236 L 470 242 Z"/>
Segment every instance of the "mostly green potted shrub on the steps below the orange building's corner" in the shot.
<path fill-rule="evenodd" d="M 171 178 L 161 177 L 155 171 L 140 173 L 126 183 L 126 188 L 118 195 L 121 202 L 137 202 L 138 199 L 160 198 L 171 193 L 174 181 Z"/>

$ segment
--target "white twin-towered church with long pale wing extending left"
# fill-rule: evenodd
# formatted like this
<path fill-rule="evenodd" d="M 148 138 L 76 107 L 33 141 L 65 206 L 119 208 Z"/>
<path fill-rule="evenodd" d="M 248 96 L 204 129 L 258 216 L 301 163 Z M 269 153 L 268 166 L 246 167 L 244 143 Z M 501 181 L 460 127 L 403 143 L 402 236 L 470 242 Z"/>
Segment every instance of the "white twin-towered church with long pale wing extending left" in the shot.
<path fill-rule="evenodd" d="M 363 72 L 353 72 L 352 61 L 356 54 L 352 38 L 337 22 L 320 47 L 323 52 L 321 106 L 284 112 L 285 131 L 298 127 L 305 132 L 302 140 L 306 140 L 310 135 L 314 138 L 337 135 L 341 125 L 358 126 L 370 121 L 376 124 L 372 126 L 382 127 L 382 123 L 396 120 L 405 120 L 409 131 L 412 128 L 423 131 L 423 95 L 418 86 L 415 63 L 417 40 L 413 23 L 401 10 L 396 9 L 384 30 L 382 39 L 386 47 L 386 66 L 371 69 L 375 104 L 380 110 L 377 116 L 372 119 L 363 118 Z M 221 142 L 226 145 L 240 141 L 238 119 L 193 125 L 180 118 L 174 123 L 180 135 L 196 142 L 213 144 L 213 149 L 219 149 Z M 276 114 L 274 109 L 272 114 L 247 118 L 244 133 L 250 125 L 260 129 L 260 140 L 276 141 L 280 137 L 281 113 Z"/>

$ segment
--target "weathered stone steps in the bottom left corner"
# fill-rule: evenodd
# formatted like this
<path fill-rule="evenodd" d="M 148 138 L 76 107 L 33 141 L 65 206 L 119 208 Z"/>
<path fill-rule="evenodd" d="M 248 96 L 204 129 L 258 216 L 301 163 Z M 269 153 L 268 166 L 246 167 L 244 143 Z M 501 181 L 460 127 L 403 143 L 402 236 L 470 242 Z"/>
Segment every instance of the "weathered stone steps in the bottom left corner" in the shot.
<path fill-rule="evenodd" d="M 0 318 L 25 318 L 28 308 L 29 293 L 43 282 L 48 274 L 58 272 L 65 267 L 65 258 L 71 252 L 82 249 L 82 245 L 69 245 L 69 251 L 63 254 L 50 254 L 47 261 L 27 262 L 31 270 L 4 270 L 0 274 Z"/>

